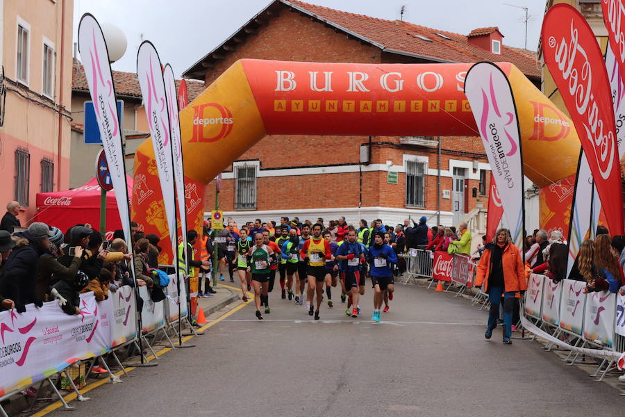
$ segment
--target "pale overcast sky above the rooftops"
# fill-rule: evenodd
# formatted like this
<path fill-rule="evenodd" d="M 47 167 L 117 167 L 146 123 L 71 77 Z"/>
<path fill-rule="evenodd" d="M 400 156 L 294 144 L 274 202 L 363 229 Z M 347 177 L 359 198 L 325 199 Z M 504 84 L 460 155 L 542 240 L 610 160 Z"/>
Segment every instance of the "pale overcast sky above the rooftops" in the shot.
<path fill-rule="evenodd" d="M 474 28 L 499 26 L 503 43 L 524 47 L 525 10 L 528 8 L 527 47 L 536 50 L 546 0 L 308 0 L 350 13 L 381 19 L 399 19 L 406 6 L 407 22 L 467 35 Z M 126 54 L 113 70 L 135 72 L 137 50 L 143 37 L 158 49 L 163 63 L 171 63 L 180 76 L 193 63 L 235 33 L 265 8 L 270 0 L 75 0 L 74 42 L 83 13 L 100 23 L 122 28 L 128 39 Z M 322 45 L 320 45 L 322 47 Z"/>

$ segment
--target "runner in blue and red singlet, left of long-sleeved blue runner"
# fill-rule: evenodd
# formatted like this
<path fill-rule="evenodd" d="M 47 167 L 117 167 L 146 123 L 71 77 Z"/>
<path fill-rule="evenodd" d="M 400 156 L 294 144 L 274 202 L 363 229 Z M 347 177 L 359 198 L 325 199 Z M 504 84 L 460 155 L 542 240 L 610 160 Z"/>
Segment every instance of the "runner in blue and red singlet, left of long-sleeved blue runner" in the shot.
<path fill-rule="evenodd" d="M 353 226 L 347 228 L 347 242 L 343 242 L 336 252 L 335 259 L 341 261 L 342 277 L 345 290 L 349 295 L 347 300 L 347 311 L 349 316 L 349 306 L 353 306 L 351 317 L 358 317 L 358 299 L 365 294 L 365 277 L 360 274 L 360 264 L 365 262 L 363 251 L 356 241 L 356 229 Z"/>

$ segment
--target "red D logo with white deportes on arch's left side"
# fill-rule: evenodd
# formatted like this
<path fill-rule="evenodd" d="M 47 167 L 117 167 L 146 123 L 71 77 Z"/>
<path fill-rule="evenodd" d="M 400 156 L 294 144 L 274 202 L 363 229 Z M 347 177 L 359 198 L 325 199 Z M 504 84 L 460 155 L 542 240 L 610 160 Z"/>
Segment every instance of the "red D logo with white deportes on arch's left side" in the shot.
<path fill-rule="evenodd" d="M 234 126 L 231 111 L 221 104 L 206 103 L 193 106 L 193 136 L 191 142 L 216 142 L 230 134 Z"/>

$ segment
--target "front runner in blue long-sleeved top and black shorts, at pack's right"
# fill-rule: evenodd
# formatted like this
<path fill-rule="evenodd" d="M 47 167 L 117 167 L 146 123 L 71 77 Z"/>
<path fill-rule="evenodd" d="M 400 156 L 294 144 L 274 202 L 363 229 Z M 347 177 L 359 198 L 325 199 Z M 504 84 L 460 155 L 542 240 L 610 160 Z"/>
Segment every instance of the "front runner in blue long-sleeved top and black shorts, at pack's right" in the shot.
<path fill-rule="evenodd" d="M 384 295 L 389 294 L 392 300 L 394 291 L 393 272 L 391 263 L 397 263 L 397 255 L 392 247 L 384 243 L 384 235 L 376 233 L 375 243 L 369 247 L 369 265 L 371 266 L 371 279 L 373 281 L 374 314 L 371 320 L 380 322 L 380 308 Z"/>

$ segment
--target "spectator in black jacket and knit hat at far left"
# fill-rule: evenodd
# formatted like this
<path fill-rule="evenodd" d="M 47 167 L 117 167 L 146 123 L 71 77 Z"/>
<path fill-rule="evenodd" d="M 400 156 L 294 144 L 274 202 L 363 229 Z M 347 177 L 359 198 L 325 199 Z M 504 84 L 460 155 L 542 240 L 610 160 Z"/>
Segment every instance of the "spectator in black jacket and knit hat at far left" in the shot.
<path fill-rule="evenodd" d="M 52 233 L 47 224 L 34 222 L 28 230 L 14 234 L 15 248 L 6 261 L 0 293 L 15 302 L 19 313 L 26 311 L 26 304 L 43 304 L 35 293 L 35 278 L 39 257 L 46 253 Z"/>

